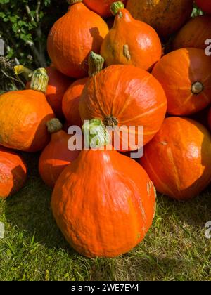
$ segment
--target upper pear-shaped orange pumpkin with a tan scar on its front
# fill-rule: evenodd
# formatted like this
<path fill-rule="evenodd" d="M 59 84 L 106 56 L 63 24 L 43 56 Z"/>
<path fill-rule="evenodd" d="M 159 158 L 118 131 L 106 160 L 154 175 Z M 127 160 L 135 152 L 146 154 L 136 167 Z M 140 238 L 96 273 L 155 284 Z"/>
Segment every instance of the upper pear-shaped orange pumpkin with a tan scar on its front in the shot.
<path fill-rule="evenodd" d="M 125 49 L 127 48 L 127 49 Z M 106 65 L 135 65 L 150 70 L 160 60 L 162 45 L 155 30 L 120 9 L 101 46 Z"/>

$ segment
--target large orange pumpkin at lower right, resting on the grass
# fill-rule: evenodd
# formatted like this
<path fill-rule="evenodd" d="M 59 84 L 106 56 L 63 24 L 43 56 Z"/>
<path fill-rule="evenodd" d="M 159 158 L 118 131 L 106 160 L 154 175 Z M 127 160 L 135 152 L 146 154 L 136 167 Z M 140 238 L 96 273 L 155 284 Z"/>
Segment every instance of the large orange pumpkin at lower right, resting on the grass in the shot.
<path fill-rule="evenodd" d="M 146 145 L 141 165 L 158 192 L 178 200 L 196 197 L 211 181 L 211 136 L 191 119 L 167 118 Z"/>

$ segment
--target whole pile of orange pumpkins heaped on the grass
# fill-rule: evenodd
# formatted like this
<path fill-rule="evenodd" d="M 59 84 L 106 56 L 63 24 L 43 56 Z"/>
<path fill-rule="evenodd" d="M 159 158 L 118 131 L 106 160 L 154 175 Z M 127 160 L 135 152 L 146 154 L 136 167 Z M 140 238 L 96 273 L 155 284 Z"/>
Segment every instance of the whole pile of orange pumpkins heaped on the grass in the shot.
<path fill-rule="evenodd" d="M 210 184 L 211 1 L 196 1 L 204 11 L 196 18 L 192 0 L 69 3 L 49 32 L 52 65 L 16 67 L 29 79 L 26 89 L 0 96 L 0 197 L 27 177 L 13 150 L 41 151 L 39 172 L 53 188 L 66 240 L 84 256 L 114 257 L 146 236 L 155 190 L 184 201 Z M 84 120 L 90 133 L 143 126 L 143 157 L 127 157 L 122 145 L 106 149 L 106 138 L 100 149 L 69 150 L 67 128 Z"/>

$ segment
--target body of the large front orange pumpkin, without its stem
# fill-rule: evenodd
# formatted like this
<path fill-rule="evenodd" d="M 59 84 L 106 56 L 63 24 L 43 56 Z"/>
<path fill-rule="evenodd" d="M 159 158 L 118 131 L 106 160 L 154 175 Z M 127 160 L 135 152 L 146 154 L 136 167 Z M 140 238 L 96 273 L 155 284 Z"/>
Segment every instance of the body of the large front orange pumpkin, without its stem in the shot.
<path fill-rule="evenodd" d="M 51 206 L 58 227 L 79 254 L 115 257 L 145 237 L 155 214 L 155 190 L 129 157 L 82 151 L 58 178 Z"/>

